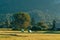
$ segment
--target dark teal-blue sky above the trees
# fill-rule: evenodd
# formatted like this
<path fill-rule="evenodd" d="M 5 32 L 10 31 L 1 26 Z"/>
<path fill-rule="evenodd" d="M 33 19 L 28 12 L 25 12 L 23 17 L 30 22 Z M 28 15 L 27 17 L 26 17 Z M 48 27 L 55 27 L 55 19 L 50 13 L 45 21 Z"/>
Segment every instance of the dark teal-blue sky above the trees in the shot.
<path fill-rule="evenodd" d="M 39 13 L 60 18 L 60 0 L 0 0 L 0 14 L 21 11 L 33 13 L 32 16 L 36 17 L 36 20 L 39 20 Z"/>

